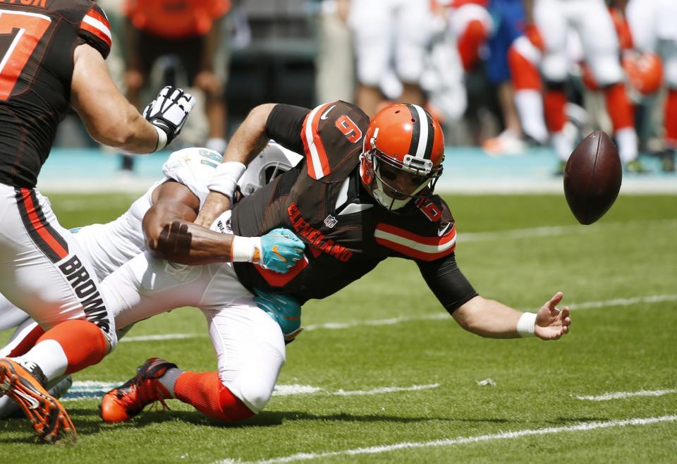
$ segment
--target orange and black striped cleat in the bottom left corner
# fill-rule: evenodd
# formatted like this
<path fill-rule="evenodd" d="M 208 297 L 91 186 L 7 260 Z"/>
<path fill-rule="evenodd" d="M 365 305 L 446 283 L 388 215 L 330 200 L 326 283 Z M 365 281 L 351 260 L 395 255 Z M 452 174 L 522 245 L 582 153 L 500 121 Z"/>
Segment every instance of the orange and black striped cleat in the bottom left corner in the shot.
<path fill-rule="evenodd" d="M 61 403 L 47 393 L 44 374 L 37 365 L 30 371 L 8 358 L 0 359 L 0 392 L 18 403 L 44 443 L 75 443 L 78 432 Z"/>

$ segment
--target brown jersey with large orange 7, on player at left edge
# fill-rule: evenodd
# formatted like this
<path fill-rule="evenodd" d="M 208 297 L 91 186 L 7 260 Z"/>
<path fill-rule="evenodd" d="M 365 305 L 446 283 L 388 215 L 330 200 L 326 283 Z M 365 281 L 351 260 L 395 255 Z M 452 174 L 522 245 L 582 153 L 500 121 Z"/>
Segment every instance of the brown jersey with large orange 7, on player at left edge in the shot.
<path fill-rule="evenodd" d="M 0 2 L 0 182 L 33 188 L 68 111 L 73 51 L 104 58 L 111 32 L 89 0 Z"/>

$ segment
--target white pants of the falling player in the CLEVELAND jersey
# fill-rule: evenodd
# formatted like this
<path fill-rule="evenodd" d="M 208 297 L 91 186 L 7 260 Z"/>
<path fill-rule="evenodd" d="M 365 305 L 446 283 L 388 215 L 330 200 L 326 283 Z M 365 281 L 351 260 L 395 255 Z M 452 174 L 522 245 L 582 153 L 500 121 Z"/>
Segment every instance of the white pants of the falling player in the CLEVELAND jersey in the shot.
<path fill-rule="evenodd" d="M 199 307 L 221 382 L 255 413 L 268 403 L 285 362 L 284 338 L 231 263 L 182 266 L 145 252 L 106 277 L 102 291 L 119 329 L 178 307 Z"/>

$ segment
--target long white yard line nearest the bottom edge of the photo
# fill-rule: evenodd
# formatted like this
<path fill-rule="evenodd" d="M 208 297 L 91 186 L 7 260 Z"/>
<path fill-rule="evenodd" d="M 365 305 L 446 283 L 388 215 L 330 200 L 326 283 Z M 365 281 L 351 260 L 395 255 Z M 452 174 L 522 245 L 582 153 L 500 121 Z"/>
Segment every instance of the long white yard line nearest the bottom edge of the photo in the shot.
<path fill-rule="evenodd" d="M 292 463 L 299 460 L 316 460 L 324 458 L 333 458 L 335 456 L 358 456 L 365 454 L 379 454 L 389 453 L 391 451 L 398 451 L 401 449 L 416 449 L 416 448 L 439 448 L 444 446 L 456 446 L 463 444 L 480 443 L 482 441 L 506 440 L 515 439 L 523 436 L 535 435 L 549 435 L 560 434 L 562 432 L 588 432 L 596 429 L 609 429 L 612 427 L 627 427 L 628 425 L 651 425 L 660 422 L 674 422 L 677 420 L 677 415 L 664 415 L 660 417 L 636 417 L 634 419 L 626 420 L 609 420 L 605 422 L 583 422 L 577 425 L 569 425 L 566 427 L 547 427 L 544 429 L 525 429 L 516 432 L 499 432 L 497 434 L 475 435 L 475 436 L 461 436 L 455 439 L 440 439 L 433 441 L 405 441 L 391 445 L 382 446 L 368 446 L 367 448 L 353 448 L 341 451 L 327 451 L 325 453 L 297 453 L 291 456 L 283 456 L 280 458 L 273 458 L 267 460 L 255 461 L 257 464 L 275 464 L 275 463 Z M 233 464 L 242 463 L 236 459 L 224 459 L 216 461 L 214 464 Z"/>

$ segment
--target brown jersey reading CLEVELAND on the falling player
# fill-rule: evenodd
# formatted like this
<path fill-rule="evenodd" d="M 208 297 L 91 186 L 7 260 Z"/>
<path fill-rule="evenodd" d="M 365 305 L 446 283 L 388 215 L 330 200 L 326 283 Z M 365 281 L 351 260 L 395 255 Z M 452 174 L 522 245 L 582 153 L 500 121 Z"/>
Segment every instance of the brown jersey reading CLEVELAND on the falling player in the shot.
<path fill-rule="evenodd" d="M 282 111 L 274 110 L 271 118 L 286 123 Z M 456 228 L 440 197 L 421 197 L 389 212 L 362 187 L 360 154 L 368 123 L 357 106 L 334 102 L 307 113 L 298 128 L 300 141 L 276 140 L 290 149 L 303 147 L 305 160 L 236 204 L 233 231 L 260 236 L 288 228 L 305 243 L 305 256 L 287 274 L 236 263 L 245 286 L 290 293 L 304 302 L 335 293 L 386 257 L 433 262 L 453 255 Z"/>

